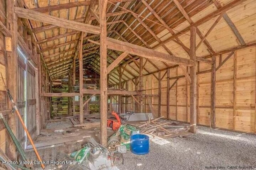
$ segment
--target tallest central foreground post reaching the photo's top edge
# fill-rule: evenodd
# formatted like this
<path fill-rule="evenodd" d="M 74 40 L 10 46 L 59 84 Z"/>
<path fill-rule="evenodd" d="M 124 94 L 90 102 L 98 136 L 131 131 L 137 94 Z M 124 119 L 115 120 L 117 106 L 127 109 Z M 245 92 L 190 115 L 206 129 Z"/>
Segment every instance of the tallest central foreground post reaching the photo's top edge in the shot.
<path fill-rule="evenodd" d="M 108 0 L 99 0 L 100 6 L 100 143 L 107 146 L 107 22 L 106 8 Z"/>

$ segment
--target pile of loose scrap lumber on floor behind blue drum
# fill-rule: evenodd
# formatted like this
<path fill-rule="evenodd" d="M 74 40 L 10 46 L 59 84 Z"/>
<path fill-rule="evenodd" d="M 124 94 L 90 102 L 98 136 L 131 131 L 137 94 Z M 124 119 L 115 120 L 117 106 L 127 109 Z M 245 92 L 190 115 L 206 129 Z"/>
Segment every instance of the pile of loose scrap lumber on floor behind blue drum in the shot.
<path fill-rule="evenodd" d="M 154 120 L 142 122 L 142 125 L 135 126 L 140 129 L 140 133 L 142 134 L 162 137 L 171 137 L 173 135 L 189 131 L 189 125 L 185 123 L 177 123 L 166 119 L 160 120 L 161 118 L 163 118 L 163 116 Z"/>

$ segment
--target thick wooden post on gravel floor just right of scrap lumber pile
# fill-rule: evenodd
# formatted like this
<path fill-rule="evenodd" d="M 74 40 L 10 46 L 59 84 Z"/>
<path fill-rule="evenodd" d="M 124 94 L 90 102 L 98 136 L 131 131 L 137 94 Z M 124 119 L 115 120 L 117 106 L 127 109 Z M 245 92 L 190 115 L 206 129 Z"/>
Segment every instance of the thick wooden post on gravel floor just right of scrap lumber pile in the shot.
<path fill-rule="evenodd" d="M 190 60 L 194 65 L 190 67 L 190 132 L 196 133 L 196 27 L 190 28 Z"/>

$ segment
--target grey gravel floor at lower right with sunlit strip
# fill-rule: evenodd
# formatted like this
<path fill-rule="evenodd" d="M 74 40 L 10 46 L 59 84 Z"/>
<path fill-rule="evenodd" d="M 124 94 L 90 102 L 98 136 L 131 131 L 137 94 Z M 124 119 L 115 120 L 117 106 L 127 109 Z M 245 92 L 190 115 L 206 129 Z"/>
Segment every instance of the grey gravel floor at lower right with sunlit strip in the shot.
<path fill-rule="evenodd" d="M 198 127 L 195 135 L 165 140 L 170 143 L 158 145 L 150 141 L 149 154 L 124 154 L 124 164 L 117 167 L 120 170 L 220 169 L 217 166 L 256 169 L 255 135 L 222 130 L 210 132 L 207 127 Z"/>

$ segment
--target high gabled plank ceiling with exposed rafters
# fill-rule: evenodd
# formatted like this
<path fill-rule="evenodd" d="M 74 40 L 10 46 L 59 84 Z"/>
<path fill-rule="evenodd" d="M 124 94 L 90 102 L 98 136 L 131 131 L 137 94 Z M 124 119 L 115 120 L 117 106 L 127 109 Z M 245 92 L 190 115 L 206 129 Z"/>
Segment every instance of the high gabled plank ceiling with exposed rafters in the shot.
<path fill-rule="evenodd" d="M 232 2 L 237 3 L 231 9 L 196 25 L 196 55 L 214 55 L 219 51 L 254 43 L 255 0 L 109 0 L 106 14 L 108 37 L 189 59 L 190 31 L 187 28 Z M 96 20 L 96 0 L 20 0 L 19 5 L 51 16 L 99 25 Z M 67 76 L 74 59 L 78 69 L 80 31 L 49 25 L 43 21 L 25 22 L 37 41 L 52 80 Z M 84 69 L 94 70 L 98 74 L 100 46 L 90 40 L 99 42 L 99 38 L 99 35 L 85 33 L 83 39 Z M 108 49 L 108 65 L 121 53 Z M 119 66 L 122 81 L 139 75 L 138 56 L 128 55 Z M 143 74 L 171 66 L 161 61 L 144 59 Z M 120 67 L 110 72 L 111 84 L 118 83 Z"/>

